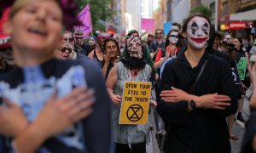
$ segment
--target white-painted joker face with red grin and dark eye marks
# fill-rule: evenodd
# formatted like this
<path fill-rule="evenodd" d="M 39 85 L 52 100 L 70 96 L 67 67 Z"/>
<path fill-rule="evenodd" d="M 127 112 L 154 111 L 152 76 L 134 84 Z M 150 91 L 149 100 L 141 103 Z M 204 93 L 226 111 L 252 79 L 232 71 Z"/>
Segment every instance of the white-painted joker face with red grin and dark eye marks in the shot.
<path fill-rule="evenodd" d="M 189 20 L 187 27 L 188 42 L 192 48 L 205 48 L 209 39 L 210 24 L 202 17 L 195 16 Z"/>

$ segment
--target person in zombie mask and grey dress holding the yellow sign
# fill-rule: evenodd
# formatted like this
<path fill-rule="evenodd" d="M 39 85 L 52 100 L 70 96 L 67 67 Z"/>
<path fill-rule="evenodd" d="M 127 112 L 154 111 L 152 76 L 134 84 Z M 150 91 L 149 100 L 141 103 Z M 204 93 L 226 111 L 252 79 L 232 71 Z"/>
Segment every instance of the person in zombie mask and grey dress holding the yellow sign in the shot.
<path fill-rule="evenodd" d="M 123 105 L 122 101 L 124 100 L 136 103 L 136 105 L 134 105 L 135 107 L 131 107 L 130 109 L 133 111 L 131 116 L 140 118 L 142 113 L 148 113 L 143 111 L 140 106 L 144 103 L 148 103 L 149 105 L 148 98 L 150 99 L 150 97 L 141 97 L 141 92 L 137 91 L 137 86 L 140 86 L 137 85 L 137 83 L 148 82 L 151 74 L 151 68 L 146 64 L 144 59 L 144 49 L 143 42 L 139 37 L 128 37 L 124 50 L 126 54 L 113 66 L 106 82 L 108 93 L 113 101 L 111 121 L 113 142 L 116 143 L 117 153 L 146 153 L 149 122 L 144 124 L 119 124 L 119 118 L 125 117 L 120 116 L 120 110 Z M 148 85 L 143 87 L 151 88 L 151 86 L 148 87 Z M 124 97 L 125 88 L 130 89 L 126 94 L 130 94 L 131 97 Z M 145 95 L 147 94 L 147 90 L 143 92 L 146 92 Z M 133 96 L 135 96 L 135 98 Z M 127 111 L 127 115 L 129 115 L 129 113 L 130 111 Z M 134 117 L 131 118 L 131 120 L 135 120 Z"/>

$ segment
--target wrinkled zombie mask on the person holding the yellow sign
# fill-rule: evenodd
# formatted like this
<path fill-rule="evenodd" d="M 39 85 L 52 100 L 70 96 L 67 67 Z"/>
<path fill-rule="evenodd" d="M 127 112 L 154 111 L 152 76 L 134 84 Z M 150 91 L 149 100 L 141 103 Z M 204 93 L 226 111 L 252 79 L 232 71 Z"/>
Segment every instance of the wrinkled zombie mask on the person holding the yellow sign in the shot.
<path fill-rule="evenodd" d="M 127 39 L 127 49 L 130 57 L 137 59 L 143 58 L 143 44 L 139 37 L 130 37 Z"/>

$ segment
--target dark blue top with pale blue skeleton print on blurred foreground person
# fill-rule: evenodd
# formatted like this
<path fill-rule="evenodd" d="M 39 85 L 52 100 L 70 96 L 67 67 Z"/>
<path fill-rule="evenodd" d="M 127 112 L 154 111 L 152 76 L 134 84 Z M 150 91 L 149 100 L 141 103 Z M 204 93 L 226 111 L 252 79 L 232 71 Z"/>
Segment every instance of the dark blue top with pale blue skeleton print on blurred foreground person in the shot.
<path fill-rule="evenodd" d="M 33 72 L 29 71 L 40 71 L 41 76 L 33 75 Z M 0 88 L 1 96 L 7 96 L 15 104 L 20 105 L 31 122 L 34 121 L 37 116 L 34 115 L 42 109 L 55 88 L 57 88 L 58 97 L 67 95 L 74 87 L 83 84 L 96 91 L 96 103 L 93 105 L 92 114 L 76 123 L 71 130 L 61 133 L 61 137 L 48 139 L 38 152 L 42 150 L 61 153 L 82 153 L 85 150 L 95 153 L 109 152 L 111 101 L 104 85 L 102 72 L 96 63 L 90 59 L 85 59 L 83 62 L 50 59 L 38 65 L 35 70 L 29 68 L 28 72 L 26 68 L 18 68 L 16 71 L 3 74 L 0 77 Z M 41 80 L 38 77 L 42 77 Z M 16 100 L 12 99 L 12 96 Z M 38 96 L 40 99 L 36 99 Z M 64 137 L 66 141 L 62 141 Z M 5 142 L 8 142 L 7 139 L 5 138 Z M 85 148 L 81 150 L 77 147 L 78 144 Z M 5 145 L 12 150 L 10 143 Z"/>

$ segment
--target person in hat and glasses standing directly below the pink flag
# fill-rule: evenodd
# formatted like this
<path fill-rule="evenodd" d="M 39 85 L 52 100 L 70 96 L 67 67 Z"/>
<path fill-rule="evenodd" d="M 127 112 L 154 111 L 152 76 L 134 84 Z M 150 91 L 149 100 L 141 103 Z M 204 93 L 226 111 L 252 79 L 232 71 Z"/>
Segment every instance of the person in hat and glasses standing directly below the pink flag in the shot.
<path fill-rule="evenodd" d="M 90 50 L 90 46 L 84 43 L 84 32 L 80 29 L 77 29 L 73 32 L 73 37 L 76 42 L 76 44 L 79 46 L 81 50 L 81 54 L 84 54 L 85 56 L 88 55 L 88 50 Z"/>

